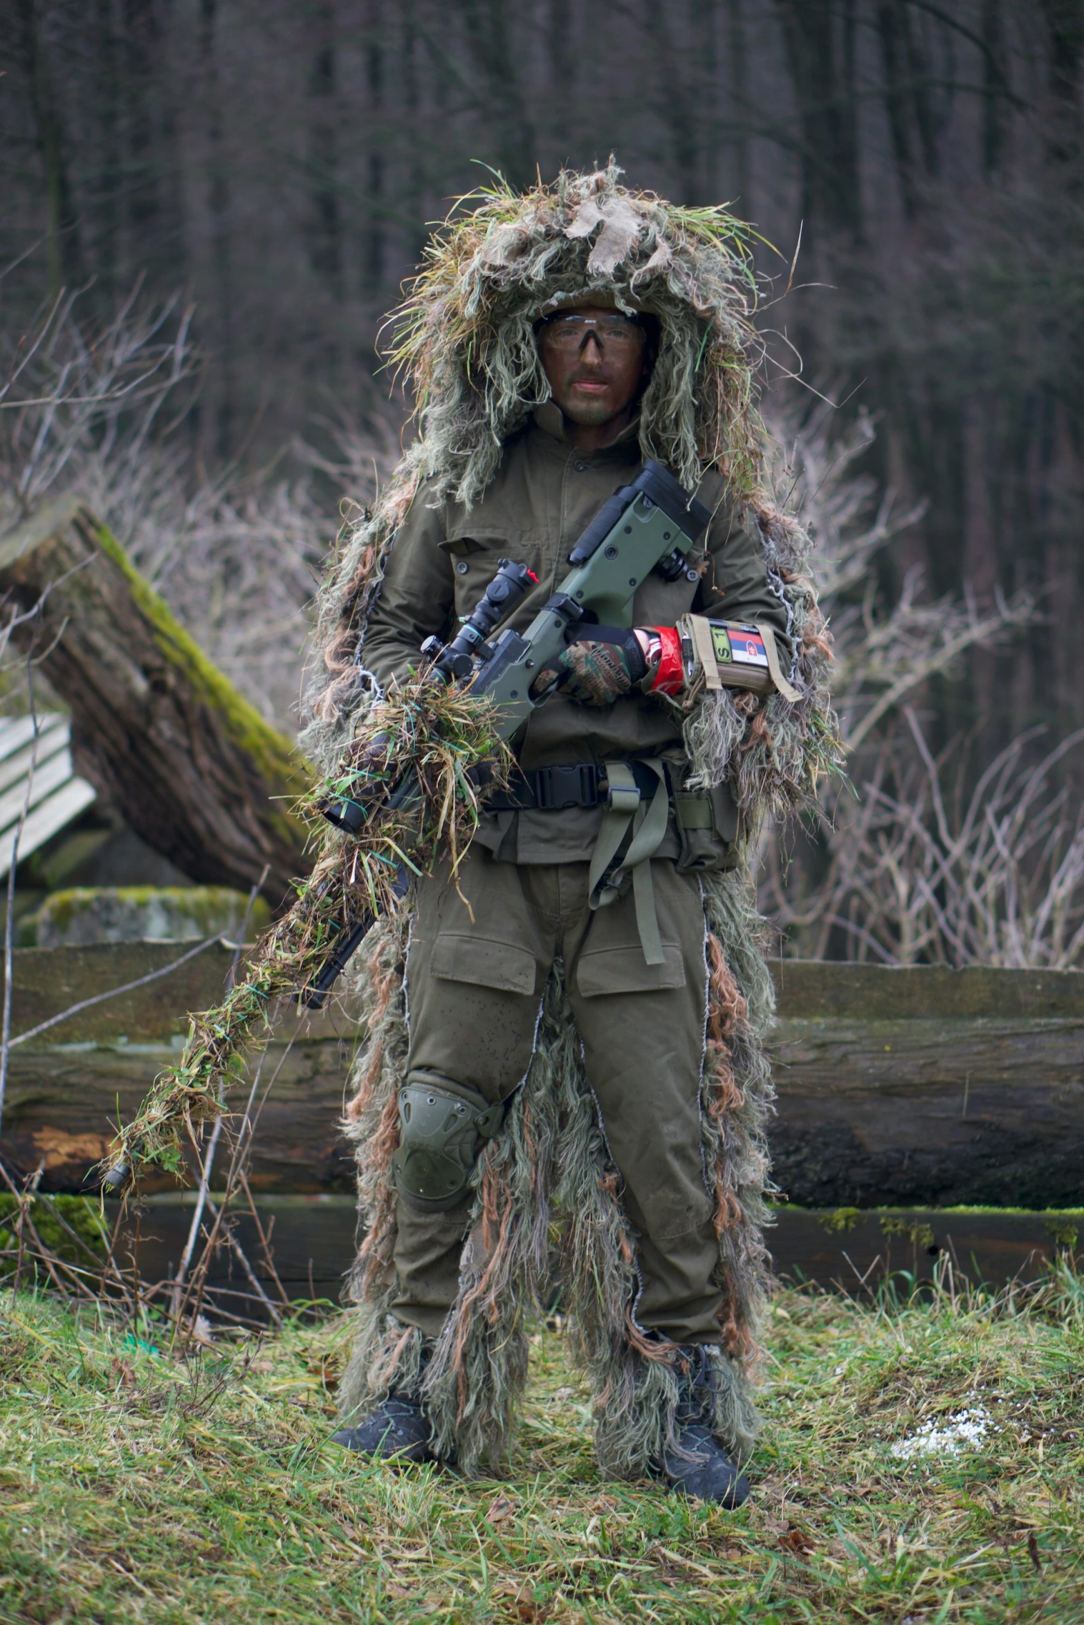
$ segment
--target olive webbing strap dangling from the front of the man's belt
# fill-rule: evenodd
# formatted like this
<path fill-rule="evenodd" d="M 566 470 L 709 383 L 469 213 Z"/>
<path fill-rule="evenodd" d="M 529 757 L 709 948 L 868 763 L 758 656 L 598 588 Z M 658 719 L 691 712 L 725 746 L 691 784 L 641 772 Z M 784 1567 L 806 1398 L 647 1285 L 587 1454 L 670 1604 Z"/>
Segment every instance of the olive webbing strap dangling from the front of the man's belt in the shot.
<path fill-rule="evenodd" d="M 666 835 L 666 819 L 670 814 L 670 795 L 666 791 L 666 772 L 655 757 L 640 757 L 644 767 L 650 769 L 658 780 L 650 804 L 644 804 L 639 785 L 627 762 L 606 762 L 606 778 L 609 782 L 609 811 L 603 814 L 603 822 L 595 842 L 592 866 L 588 871 L 588 900 L 592 908 L 605 908 L 614 902 L 621 884 L 632 871 L 632 897 L 635 902 L 635 925 L 640 933 L 640 947 L 648 965 L 663 965 L 663 942 L 658 934 L 658 916 L 655 913 L 655 887 L 652 884 L 652 856 L 658 852 Z M 618 868 L 614 860 L 622 842 L 632 832 L 629 848 Z"/>

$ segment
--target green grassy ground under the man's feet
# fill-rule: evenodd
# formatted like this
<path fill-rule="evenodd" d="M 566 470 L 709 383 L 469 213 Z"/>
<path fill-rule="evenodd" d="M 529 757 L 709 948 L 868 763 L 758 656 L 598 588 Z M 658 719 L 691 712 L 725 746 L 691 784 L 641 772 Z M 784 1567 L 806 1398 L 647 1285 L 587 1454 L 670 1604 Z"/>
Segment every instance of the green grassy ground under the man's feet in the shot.
<path fill-rule="evenodd" d="M 1073 1276 L 1027 1310 L 780 1294 L 730 1514 L 600 1480 L 544 1329 L 514 1479 L 366 1466 L 327 1443 L 348 1332 L 180 1362 L 0 1294 L 0 1620 L 1084 1622 Z"/>

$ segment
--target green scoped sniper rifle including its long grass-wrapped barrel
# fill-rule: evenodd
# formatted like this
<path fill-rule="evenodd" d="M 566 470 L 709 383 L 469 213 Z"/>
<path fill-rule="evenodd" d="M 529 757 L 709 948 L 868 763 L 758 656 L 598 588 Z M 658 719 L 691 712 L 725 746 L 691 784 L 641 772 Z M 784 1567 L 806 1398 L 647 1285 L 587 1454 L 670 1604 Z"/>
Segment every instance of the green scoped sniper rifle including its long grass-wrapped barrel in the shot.
<path fill-rule="evenodd" d="M 499 561 L 494 578 L 471 614 L 462 619 L 455 637 L 447 645 L 426 639 L 423 655 L 429 666 L 421 673 L 423 687 L 429 682 L 455 686 L 471 699 L 489 699 L 492 705 L 484 723 L 489 749 L 494 739 L 509 744 L 535 705 L 544 702 L 544 697 L 533 700 L 530 696 L 535 678 L 572 639 L 590 634 L 613 642 L 613 634 L 629 629 L 635 588 L 652 572 L 673 582 L 689 570 L 687 552 L 704 535 L 710 517 L 660 463 L 647 462 L 635 479 L 603 504 L 569 554 L 570 572 L 522 634 L 505 627 L 496 635 L 535 577 L 522 564 Z M 694 570 L 689 574 L 692 578 L 697 575 Z M 371 738 L 367 751 L 367 759 L 382 765 L 369 772 L 362 762 L 346 783 L 338 780 L 335 795 L 320 804 L 320 812 L 348 835 L 371 832 L 375 850 L 388 845 L 380 838 L 382 829 L 387 834 L 388 814 L 398 817 L 410 812 L 423 803 L 424 793 L 414 765 L 397 774 L 395 748 L 387 734 Z M 481 756 L 475 760 L 481 762 Z M 405 856 L 400 848 L 395 852 Z M 380 895 L 388 907 L 392 899 L 405 894 L 410 869 L 421 869 L 411 860 L 393 861 L 387 850 L 380 852 L 380 866 L 385 876 Z M 216 1011 L 192 1017 L 180 1064 L 159 1074 L 137 1120 L 120 1131 L 119 1144 L 106 1159 L 106 1190 L 127 1188 L 138 1162 L 179 1167 L 177 1123 L 190 1126 L 218 1115 L 229 1069 L 245 1046 L 260 1042 L 258 1034 L 267 1027 L 265 1011 L 275 996 L 291 990 L 309 1009 L 322 1008 L 382 907 L 374 902 L 361 916 L 348 918 L 341 876 L 333 881 L 332 869 L 325 869 L 322 879 L 317 879 L 319 874 L 320 866 L 294 908 L 262 944 L 245 980 Z M 371 887 L 369 895 L 375 890 Z M 307 959 L 309 951 L 301 954 L 296 942 L 291 946 L 291 931 L 304 934 L 306 918 L 310 920 L 314 910 L 325 910 L 323 916 L 330 912 L 338 921 L 332 923 L 328 959 L 297 994 L 297 980 L 291 983 L 288 970 L 291 964 Z"/>

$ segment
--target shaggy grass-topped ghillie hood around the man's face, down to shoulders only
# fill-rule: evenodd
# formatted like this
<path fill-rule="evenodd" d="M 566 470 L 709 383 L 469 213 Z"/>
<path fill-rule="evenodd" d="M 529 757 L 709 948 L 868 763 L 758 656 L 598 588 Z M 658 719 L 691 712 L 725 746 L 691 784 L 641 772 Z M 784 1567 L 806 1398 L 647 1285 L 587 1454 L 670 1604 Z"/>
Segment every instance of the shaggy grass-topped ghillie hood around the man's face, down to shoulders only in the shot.
<path fill-rule="evenodd" d="M 619 185 L 616 164 L 553 187 L 479 193 L 434 237 L 392 317 L 392 359 L 418 400 L 410 462 L 470 507 L 502 444 L 549 398 L 533 323 L 596 297 L 648 310 L 658 361 L 640 408 L 640 450 L 694 488 L 723 468 L 757 483 L 749 229 L 722 208 L 689 210 Z"/>

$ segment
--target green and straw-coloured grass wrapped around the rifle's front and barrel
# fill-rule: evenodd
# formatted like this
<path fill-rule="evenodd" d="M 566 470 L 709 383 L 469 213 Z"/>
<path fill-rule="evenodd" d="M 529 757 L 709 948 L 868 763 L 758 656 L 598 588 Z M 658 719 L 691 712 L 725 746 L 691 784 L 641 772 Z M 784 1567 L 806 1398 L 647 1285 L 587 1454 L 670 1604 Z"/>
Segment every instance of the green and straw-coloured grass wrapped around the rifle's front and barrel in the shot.
<path fill-rule="evenodd" d="M 223 1003 L 192 1016 L 179 1064 L 154 1081 L 114 1142 L 106 1170 L 125 1165 L 137 1178 L 150 1167 L 182 1172 L 185 1133 L 198 1133 L 200 1123 L 223 1115 L 226 1090 L 239 1079 L 245 1056 L 270 1037 L 271 1003 L 314 982 L 345 921 L 354 925 L 393 907 L 397 864 L 423 874 L 447 858 L 455 871 L 478 824 L 478 796 L 466 777 L 476 762 L 489 762 L 492 782 L 501 785 L 510 756 L 494 731 L 491 704 L 462 689 L 414 678 L 361 715 L 336 772 L 302 803 L 322 853 L 299 884 L 296 904 L 260 941 Z M 405 774 L 416 777 L 421 795 L 388 809 L 388 793 Z M 356 837 L 345 837 L 319 809 L 328 798 L 351 795 L 369 817 Z"/>

